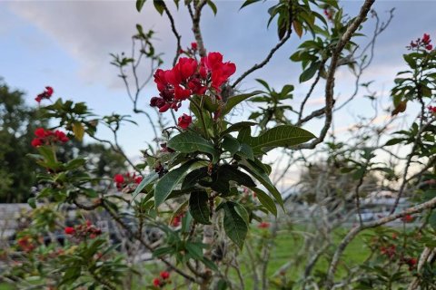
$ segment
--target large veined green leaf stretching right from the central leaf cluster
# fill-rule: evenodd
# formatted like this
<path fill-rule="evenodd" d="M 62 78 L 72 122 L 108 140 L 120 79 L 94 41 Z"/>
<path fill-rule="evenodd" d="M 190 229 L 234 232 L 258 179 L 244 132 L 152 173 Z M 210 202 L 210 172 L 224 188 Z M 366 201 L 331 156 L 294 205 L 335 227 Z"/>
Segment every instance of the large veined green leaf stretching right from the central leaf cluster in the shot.
<path fill-rule="evenodd" d="M 238 136 L 238 140 L 239 138 Z M 309 131 L 291 125 L 282 125 L 265 131 L 258 137 L 249 139 L 245 136 L 243 140 L 249 140 L 245 142 L 252 147 L 254 154 L 264 154 L 277 147 L 298 145 L 313 138 L 315 136 Z"/>

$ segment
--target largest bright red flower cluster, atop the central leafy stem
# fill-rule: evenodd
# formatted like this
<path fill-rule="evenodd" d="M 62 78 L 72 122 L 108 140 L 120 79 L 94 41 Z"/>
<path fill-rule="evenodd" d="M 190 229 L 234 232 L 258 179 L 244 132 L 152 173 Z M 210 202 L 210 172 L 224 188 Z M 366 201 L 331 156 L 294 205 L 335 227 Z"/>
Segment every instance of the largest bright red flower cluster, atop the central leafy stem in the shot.
<path fill-rule="evenodd" d="M 197 49 L 196 43 L 191 46 L 193 51 Z M 173 69 L 158 69 L 154 73 L 159 97 L 153 97 L 150 105 L 160 112 L 177 111 L 193 94 L 202 95 L 208 90 L 213 94 L 221 92 L 221 86 L 235 71 L 234 63 L 223 63 L 221 53 L 209 53 L 200 63 L 192 57 L 182 57 Z"/>

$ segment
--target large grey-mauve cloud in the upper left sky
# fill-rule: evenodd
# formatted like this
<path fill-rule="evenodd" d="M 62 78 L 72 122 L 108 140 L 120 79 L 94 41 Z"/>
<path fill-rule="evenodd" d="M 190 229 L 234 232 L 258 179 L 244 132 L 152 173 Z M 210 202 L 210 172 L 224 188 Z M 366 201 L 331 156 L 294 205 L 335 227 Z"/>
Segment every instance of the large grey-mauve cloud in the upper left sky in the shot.
<path fill-rule="evenodd" d="M 135 24 L 144 24 L 144 29 L 159 26 L 158 51 L 166 51 L 174 42 L 166 19 L 151 5 L 145 5 L 142 14 L 135 11 L 133 2 L 13 2 L 8 8 L 74 58 L 87 83 L 114 82 L 117 72 L 109 53 L 130 51 Z"/>

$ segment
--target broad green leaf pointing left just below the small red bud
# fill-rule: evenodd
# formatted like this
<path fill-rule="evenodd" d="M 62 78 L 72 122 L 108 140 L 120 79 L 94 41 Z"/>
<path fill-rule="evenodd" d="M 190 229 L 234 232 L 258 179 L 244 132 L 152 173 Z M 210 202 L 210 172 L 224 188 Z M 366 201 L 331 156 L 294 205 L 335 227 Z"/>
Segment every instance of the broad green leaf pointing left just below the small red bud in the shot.
<path fill-rule="evenodd" d="M 167 147 L 182 153 L 200 151 L 212 155 L 216 154 L 212 142 L 205 140 L 202 136 L 192 131 L 185 131 L 174 136 L 168 141 Z"/>

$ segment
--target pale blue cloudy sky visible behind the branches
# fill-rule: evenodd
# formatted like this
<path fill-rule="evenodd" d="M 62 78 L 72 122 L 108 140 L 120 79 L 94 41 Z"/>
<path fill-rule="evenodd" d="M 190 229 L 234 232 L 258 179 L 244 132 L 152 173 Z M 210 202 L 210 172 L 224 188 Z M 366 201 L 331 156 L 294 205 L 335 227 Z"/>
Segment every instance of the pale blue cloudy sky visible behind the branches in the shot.
<path fill-rule="evenodd" d="M 217 51 L 224 55 L 224 61 L 236 63 L 236 79 L 241 73 L 263 60 L 272 46 L 277 43 L 274 24 L 267 29 L 269 15 L 267 9 L 274 1 L 265 1 L 239 9 L 241 1 L 214 1 L 218 14 L 213 15 L 207 7 L 202 18 L 203 37 L 209 52 Z M 183 1 L 181 1 L 181 4 Z M 362 1 L 340 2 L 345 12 L 357 13 Z M 193 34 L 187 10 L 181 5 L 177 11 L 173 3 L 168 3 L 179 32 L 183 35 L 182 46 L 193 42 Z M 434 11 L 436 1 L 376 1 L 373 9 L 386 20 L 387 12 L 395 8 L 394 18 L 388 29 L 381 34 L 375 47 L 372 66 L 364 73 L 362 81 L 374 81 L 383 106 L 389 106 L 389 91 L 395 74 L 405 66 L 402 54 L 412 39 L 423 33 L 434 35 Z M 166 17 L 155 10 L 151 1 L 144 5 L 141 14 L 135 10 L 132 1 L 0 1 L 0 77 L 12 88 L 24 91 L 26 102 L 35 105 L 35 95 L 46 85 L 54 87 L 54 98 L 62 97 L 74 102 L 86 102 L 98 115 L 133 114 L 124 84 L 117 77 L 117 69 L 110 64 L 109 53 L 129 52 L 131 35 L 135 24 L 142 24 L 144 30 L 156 32 L 155 48 L 163 53 L 163 68 L 171 67 L 175 40 Z M 370 19 L 363 32 L 373 29 Z M 307 37 L 307 36 L 305 36 Z M 358 40 L 365 43 L 367 38 Z M 301 43 L 295 34 L 291 41 L 283 45 L 267 66 L 247 77 L 240 86 L 245 92 L 261 89 L 255 78 L 262 78 L 272 87 L 280 90 L 286 83 L 295 85 L 294 100 L 298 105 L 308 89 L 308 83 L 300 84 L 302 72 L 299 63 L 289 61 L 289 56 Z M 144 69 L 144 72 L 145 69 Z M 342 69 L 338 72 L 335 92 L 339 101 L 352 90 L 350 73 Z M 151 111 L 148 103 L 157 94 L 153 82 L 145 87 L 139 107 Z M 341 99 L 343 98 L 343 99 Z M 362 98 L 345 108 L 335 121 L 338 132 L 351 128 L 356 116 L 370 113 L 369 103 Z M 307 112 L 321 108 L 322 91 L 315 91 Z M 244 104 L 243 111 L 250 107 Z M 243 113 L 243 115 L 245 114 Z M 381 116 L 381 121 L 384 120 Z M 139 150 L 146 148 L 146 142 L 153 135 L 144 116 L 134 116 L 139 126 L 125 125 L 120 140 L 129 156 L 138 156 Z M 305 127 L 317 135 L 321 123 L 314 121 Z M 110 138 L 103 128 L 99 137 Z"/>

